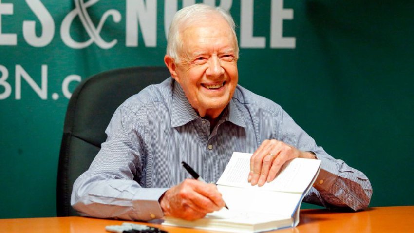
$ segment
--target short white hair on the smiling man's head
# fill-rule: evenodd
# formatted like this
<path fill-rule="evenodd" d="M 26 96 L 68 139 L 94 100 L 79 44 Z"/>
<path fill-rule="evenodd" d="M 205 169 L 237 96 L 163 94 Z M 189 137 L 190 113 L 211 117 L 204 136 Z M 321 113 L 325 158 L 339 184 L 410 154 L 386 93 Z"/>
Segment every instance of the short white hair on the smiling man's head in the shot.
<path fill-rule="evenodd" d="M 230 13 L 226 10 L 223 10 L 220 7 L 212 7 L 207 4 L 194 4 L 188 7 L 185 7 L 177 13 L 175 13 L 174 18 L 172 19 L 171 26 L 169 27 L 168 39 L 167 39 L 167 55 L 177 62 L 179 60 L 179 52 L 183 47 L 183 42 L 180 38 L 180 29 L 183 26 L 188 26 L 188 24 L 200 22 L 205 19 L 208 20 L 211 15 L 218 15 L 223 17 L 231 28 L 235 44 L 236 44 L 236 57 L 239 57 L 239 45 L 237 43 L 237 36 L 235 31 L 236 24 L 234 23 L 233 18 Z"/>

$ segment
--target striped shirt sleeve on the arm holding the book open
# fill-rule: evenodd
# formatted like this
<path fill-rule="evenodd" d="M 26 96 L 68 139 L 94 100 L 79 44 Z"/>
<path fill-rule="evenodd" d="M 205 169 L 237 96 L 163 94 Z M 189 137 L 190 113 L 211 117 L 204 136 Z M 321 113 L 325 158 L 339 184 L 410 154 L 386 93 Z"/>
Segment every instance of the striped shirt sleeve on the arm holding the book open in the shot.
<path fill-rule="evenodd" d="M 315 140 L 283 110 L 277 115 L 277 122 L 275 134 L 278 140 L 302 151 L 313 152 L 321 160 L 320 173 L 303 201 L 331 209 L 351 208 L 357 211 L 368 207 L 372 187 L 366 175 L 317 146 Z"/>

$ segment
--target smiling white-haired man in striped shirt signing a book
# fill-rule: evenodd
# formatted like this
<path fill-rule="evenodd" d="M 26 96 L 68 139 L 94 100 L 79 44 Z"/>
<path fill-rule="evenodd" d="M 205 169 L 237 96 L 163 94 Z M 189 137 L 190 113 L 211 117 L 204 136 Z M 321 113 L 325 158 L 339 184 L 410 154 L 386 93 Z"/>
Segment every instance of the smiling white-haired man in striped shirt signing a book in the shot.
<path fill-rule="evenodd" d="M 214 184 L 191 179 L 180 163 L 215 183 L 234 151 L 253 153 L 246 179 L 259 186 L 286 161 L 320 159 L 304 201 L 367 207 L 372 189 L 364 174 L 318 147 L 279 105 L 237 85 L 238 52 L 227 12 L 203 4 L 178 11 L 164 58 L 171 77 L 116 110 L 106 142 L 75 182 L 73 207 L 103 218 L 201 218 L 225 202 Z"/>

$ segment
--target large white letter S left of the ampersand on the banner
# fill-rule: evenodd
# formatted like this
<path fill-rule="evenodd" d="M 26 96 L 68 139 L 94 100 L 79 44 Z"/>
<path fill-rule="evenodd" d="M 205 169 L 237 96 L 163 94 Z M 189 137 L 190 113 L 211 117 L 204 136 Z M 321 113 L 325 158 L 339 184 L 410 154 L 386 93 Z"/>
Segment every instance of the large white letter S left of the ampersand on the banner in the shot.
<path fill-rule="evenodd" d="M 46 46 L 55 35 L 55 21 L 40 0 L 26 0 L 26 3 L 38 17 L 42 25 L 42 35 L 36 36 L 36 21 L 23 21 L 23 37 L 33 47 Z"/>

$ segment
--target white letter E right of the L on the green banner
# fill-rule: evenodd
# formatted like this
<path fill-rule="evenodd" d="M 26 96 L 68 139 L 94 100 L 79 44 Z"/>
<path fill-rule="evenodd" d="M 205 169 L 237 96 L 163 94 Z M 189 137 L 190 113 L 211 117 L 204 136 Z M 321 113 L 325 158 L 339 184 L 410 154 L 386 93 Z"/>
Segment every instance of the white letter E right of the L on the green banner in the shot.
<path fill-rule="evenodd" d="M 283 0 L 272 0 L 270 48 L 295 48 L 296 38 L 283 37 L 283 19 L 293 19 L 292 9 L 283 9 Z"/>

